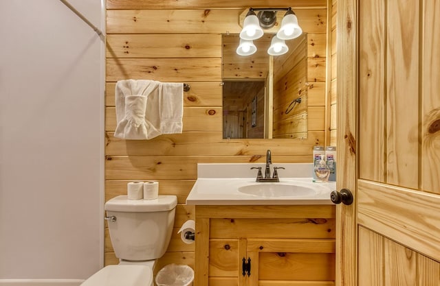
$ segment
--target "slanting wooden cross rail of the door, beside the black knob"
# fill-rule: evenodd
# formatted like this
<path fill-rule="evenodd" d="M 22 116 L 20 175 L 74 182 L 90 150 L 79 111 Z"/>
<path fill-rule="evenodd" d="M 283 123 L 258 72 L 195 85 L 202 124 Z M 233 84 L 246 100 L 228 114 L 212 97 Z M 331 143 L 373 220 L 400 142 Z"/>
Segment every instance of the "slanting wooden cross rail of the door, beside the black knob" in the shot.
<path fill-rule="evenodd" d="M 358 224 L 440 261 L 440 196 L 358 181 Z"/>

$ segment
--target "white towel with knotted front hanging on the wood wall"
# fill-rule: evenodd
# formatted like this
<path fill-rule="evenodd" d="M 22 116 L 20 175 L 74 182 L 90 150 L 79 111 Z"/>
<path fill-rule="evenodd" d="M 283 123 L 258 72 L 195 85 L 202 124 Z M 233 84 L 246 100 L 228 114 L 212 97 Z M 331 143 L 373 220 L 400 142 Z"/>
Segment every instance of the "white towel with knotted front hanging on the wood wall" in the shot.
<path fill-rule="evenodd" d="M 181 133 L 184 84 L 120 80 L 116 83 L 115 104 L 115 137 L 142 140 Z"/>

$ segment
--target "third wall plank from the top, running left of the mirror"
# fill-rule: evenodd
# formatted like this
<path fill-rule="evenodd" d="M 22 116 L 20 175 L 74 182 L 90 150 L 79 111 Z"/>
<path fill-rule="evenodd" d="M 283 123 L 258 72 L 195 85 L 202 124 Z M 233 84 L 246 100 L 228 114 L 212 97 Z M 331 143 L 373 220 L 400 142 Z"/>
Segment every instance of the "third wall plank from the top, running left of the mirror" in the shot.
<path fill-rule="evenodd" d="M 109 34 L 107 58 L 221 58 L 221 35 Z"/>

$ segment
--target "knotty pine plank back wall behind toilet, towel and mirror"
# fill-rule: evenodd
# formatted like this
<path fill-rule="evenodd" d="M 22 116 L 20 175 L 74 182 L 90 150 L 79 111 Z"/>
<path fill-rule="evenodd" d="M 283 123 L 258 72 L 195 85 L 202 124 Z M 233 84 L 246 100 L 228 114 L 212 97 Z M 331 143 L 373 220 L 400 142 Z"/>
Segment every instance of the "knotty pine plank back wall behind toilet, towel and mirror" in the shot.
<path fill-rule="evenodd" d="M 309 163 L 314 145 L 324 145 L 325 123 L 302 141 L 289 139 L 222 139 L 221 34 L 240 31 L 239 15 L 254 8 L 291 6 L 305 32 L 327 33 L 325 0 L 299 1 L 107 1 L 106 200 L 126 193 L 131 180 L 158 180 L 159 193 L 177 195 L 175 228 L 157 269 L 168 263 L 194 266 L 194 245 L 180 241 L 177 230 L 194 209 L 185 205 L 197 178 L 197 163 Z M 325 37 L 322 37 L 325 38 Z M 314 45 L 326 45 L 314 39 Z M 318 62 L 311 68 L 324 65 Z M 324 73 L 325 74 L 325 73 Z M 322 75 L 325 76 L 325 75 Z M 186 82 L 184 132 L 149 141 L 125 141 L 115 130 L 115 82 L 124 79 Z M 316 102 L 325 106 L 325 85 L 316 86 Z M 322 120 L 309 118 L 309 121 Z M 288 176 L 283 174 L 280 176 Z M 106 228 L 105 265 L 116 264 Z"/>

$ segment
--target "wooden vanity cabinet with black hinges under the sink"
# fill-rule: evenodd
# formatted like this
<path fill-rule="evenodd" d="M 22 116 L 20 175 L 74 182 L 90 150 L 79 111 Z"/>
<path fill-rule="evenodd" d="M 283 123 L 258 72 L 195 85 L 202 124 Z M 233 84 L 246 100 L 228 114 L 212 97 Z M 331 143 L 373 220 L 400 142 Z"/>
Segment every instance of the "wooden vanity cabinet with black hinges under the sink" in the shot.
<path fill-rule="evenodd" d="M 195 206 L 195 222 L 195 286 L 334 285 L 333 205 Z"/>

